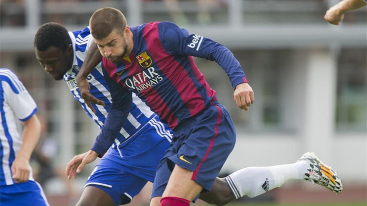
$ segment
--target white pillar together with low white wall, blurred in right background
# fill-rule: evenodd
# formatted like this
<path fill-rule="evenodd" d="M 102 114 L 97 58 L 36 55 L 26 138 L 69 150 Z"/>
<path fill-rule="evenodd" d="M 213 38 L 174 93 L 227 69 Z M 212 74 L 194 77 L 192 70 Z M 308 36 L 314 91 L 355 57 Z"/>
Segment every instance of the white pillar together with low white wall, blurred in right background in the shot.
<path fill-rule="evenodd" d="M 282 97 L 289 100 L 283 104 L 292 107 L 286 118 L 296 121 L 292 116 L 302 117 L 295 123 L 297 132 L 238 133 L 223 171 L 292 163 L 311 151 L 337 170 L 344 181 L 366 181 L 366 133 L 335 132 L 336 54 L 333 49 L 294 52 L 294 66 L 286 69 L 280 81 L 286 82 Z"/>

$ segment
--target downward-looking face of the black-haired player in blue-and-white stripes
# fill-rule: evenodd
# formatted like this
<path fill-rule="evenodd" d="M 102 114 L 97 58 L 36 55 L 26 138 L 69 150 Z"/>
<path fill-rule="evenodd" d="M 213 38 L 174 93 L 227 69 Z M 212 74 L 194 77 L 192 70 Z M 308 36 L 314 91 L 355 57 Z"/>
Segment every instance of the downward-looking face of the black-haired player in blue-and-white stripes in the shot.
<path fill-rule="evenodd" d="M 50 47 L 46 51 L 34 48 L 36 58 L 41 67 L 55 80 L 62 80 L 66 71 L 73 65 L 73 46 L 70 44 L 65 51 L 56 47 Z"/>

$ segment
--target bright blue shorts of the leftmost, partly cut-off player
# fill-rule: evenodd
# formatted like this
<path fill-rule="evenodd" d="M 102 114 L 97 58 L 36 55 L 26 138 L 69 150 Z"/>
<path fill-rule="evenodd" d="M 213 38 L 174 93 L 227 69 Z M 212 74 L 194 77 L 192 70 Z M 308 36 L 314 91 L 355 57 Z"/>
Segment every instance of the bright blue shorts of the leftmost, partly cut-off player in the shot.
<path fill-rule="evenodd" d="M 41 186 L 36 181 L 26 181 L 12 185 L 1 185 L 1 206 L 48 206 L 48 202 Z"/>

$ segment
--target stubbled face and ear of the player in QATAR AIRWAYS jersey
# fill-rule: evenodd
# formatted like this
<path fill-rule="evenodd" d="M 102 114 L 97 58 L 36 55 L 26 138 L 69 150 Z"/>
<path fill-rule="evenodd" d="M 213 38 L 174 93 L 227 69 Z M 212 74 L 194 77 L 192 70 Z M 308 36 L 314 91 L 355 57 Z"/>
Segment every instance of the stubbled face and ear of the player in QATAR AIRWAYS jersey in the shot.
<path fill-rule="evenodd" d="M 120 62 L 128 54 L 128 43 L 126 35 L 130 32 L 130 28 L 124 30 L 123 34 L 113 30 L 106 38 L 101 40 L 95 39 L 99 52 L 106 59 L 113 63 Z"/>

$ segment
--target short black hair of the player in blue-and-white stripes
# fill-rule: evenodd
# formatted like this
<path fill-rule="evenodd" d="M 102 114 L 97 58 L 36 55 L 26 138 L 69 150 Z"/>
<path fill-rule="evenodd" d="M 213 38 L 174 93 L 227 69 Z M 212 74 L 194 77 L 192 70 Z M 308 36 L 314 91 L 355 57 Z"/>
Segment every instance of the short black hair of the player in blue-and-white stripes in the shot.
<path fill-rule="evenodd" d="M 51 46 L 65 51 L 72 44 L 68 30 L 59 23 L 49 22 L 41 25 L 34 36 L 34 47 L 46 51 Z"/>

